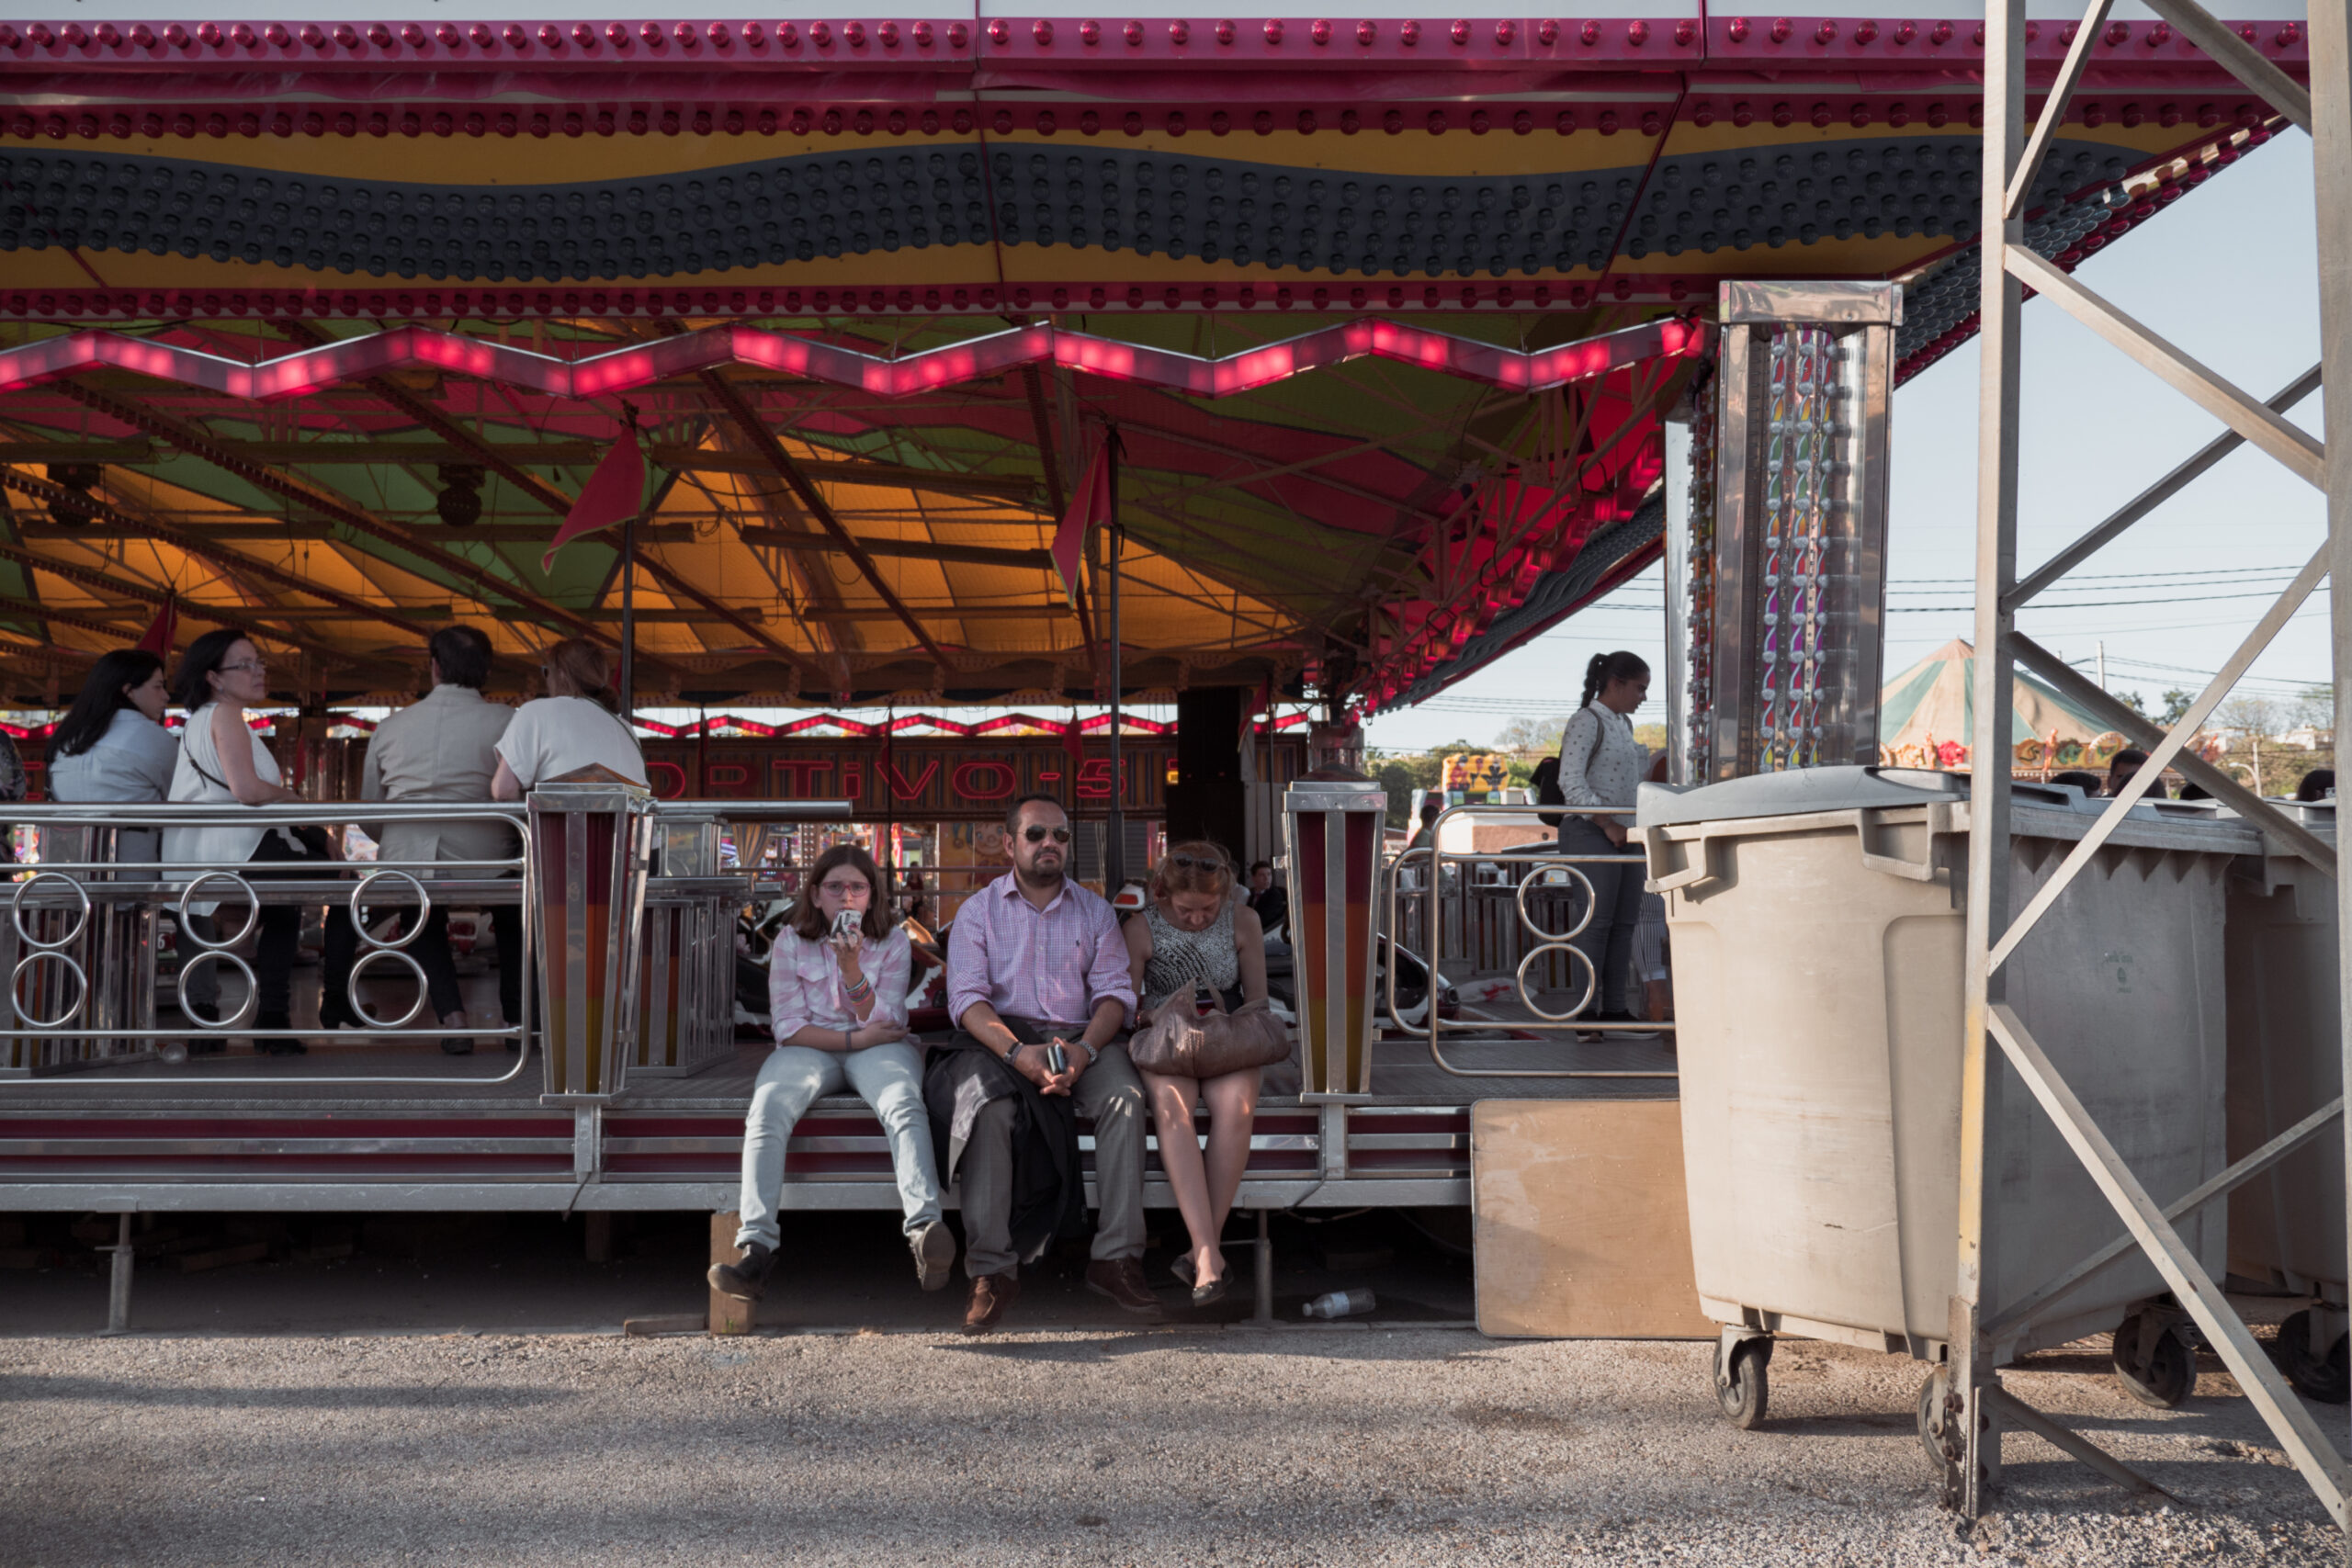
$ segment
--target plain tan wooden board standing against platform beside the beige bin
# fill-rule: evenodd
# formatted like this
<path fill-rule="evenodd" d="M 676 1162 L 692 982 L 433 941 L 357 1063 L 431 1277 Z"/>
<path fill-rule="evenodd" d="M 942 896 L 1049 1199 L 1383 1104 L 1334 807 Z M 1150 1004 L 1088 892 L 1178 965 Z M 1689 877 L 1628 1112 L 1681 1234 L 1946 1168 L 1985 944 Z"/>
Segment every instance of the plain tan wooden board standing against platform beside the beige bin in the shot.
<path fill-rule="evenodd" d="M 1498 1340 L 1712 1340 L 1677 1100 L 1470 1107 L 1477 1326 Z"/>

